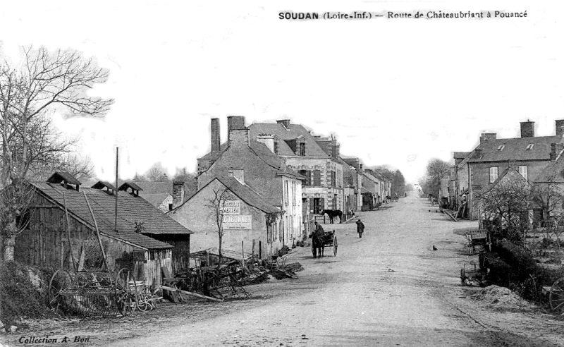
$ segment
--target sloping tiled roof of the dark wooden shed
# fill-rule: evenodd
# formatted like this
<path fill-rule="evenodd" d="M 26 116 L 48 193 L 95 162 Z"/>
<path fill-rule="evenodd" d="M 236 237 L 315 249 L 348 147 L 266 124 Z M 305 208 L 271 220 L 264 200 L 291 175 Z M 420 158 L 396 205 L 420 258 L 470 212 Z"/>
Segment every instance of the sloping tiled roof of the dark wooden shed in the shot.
<path fill-rule="evenodd" d="M 93 188 L 80 188 L 80 191 L 66 189 L 56 183 L 32 182 L 32 185 L 61 207 L 64 207 L 64 193 L 68 212 L 90 224 L 93 228 L 94 221 L 84 197 L 84 193 L 86 193 L 101 233 L 144 248 L 170 248 L 171 245 L 143 234 L 187 235 L 192 233 L 192 231 L 178 224 L 177 221 L 160 212 L 159 209 L 149 204 L 142 197 L 135 197 L 129 193 L 119 192 L 118 231 L 115 231 L 115 195 Z M 135 222 L 143 223 L 142 233 L 135 232 Z"/>

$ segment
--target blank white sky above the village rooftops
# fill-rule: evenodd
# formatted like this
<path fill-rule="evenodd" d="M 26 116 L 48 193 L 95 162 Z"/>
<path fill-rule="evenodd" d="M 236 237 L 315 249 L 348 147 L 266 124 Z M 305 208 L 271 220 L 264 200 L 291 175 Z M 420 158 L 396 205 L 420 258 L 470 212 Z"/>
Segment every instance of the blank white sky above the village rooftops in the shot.
<path fill-rule="evenodd" d="M 388 164 L 407 181 L 431 158 L 472 150 L 479 134 L 553 135 L 564 118 L 564 5 L 557 1 L 0 1 L 0 49 L 76 49 L 109 69 L 90 95 L 104 119 L 54 123 L 80 138 L 99 178 L 161 162 L 195 171 L 209 123 L 289 118 L 336 135 L 341 154 Z M 278 13 L 386 14 L 280 20 Z M 526 18 L 387 18 L 395 13 L 527 11 Z"/>

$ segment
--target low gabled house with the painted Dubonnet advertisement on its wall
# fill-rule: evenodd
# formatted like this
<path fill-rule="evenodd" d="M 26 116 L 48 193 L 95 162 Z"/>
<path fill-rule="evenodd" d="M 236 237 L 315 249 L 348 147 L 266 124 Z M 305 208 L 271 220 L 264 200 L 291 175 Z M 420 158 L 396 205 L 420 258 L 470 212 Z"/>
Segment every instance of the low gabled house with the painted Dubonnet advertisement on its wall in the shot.
<path fill-rule="evenodd" d="M 226 193 L 223 193 L 223 192 Z M 214 202 L 216 197 L 221 198 Z M 192 252 L 219 247 L 216 224 L 216 204 L 221 204 L 219 218 L 222 220 L 222 248 L 241 254 L 241 242 L 245 252 L 255 253 L 262 248 L 262 255 L 274 255 L 283 247 L 291 247 L 295 240 L 286 231 L 284 211 L 274 207 L 256 193 L 245 182 L 233 177 L 214 177 L 182 205 L 168 212 L 178 223 L 195 231 L 192 238 Z M 260 241 L 260 243 L 259 243 Z"/>

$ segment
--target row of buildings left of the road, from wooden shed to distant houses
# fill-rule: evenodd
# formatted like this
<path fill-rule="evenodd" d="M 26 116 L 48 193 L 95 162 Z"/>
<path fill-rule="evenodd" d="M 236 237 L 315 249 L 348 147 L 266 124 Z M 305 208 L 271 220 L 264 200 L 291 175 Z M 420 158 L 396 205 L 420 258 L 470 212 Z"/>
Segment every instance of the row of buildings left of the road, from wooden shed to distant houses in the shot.
<path fill-rule="evenodd" d="M 190 252 L 218 247 L 219 224 L 223 249 L 240 251 L 243 244 L 245 252 L 272 255 L 307 238 L 324 209 L 346 215 L 391 195 L 391 182 L 364 169 L 360 159 L 341 156 L 336 138 L 312 135 L 289 120 L 246 126 L 245 117 L 229 116 L 221 143 L 214 118 L 210 133 L 211 150 L 197 159 L 197 176 L 188 182 L 83 185 L 64 172 L 30 182 L 16 261 L 127 267 L 137 279 L 161 283 L 163 267 L 183 272 Z M 96 251 L 100 243 L 107 264 Z"/>

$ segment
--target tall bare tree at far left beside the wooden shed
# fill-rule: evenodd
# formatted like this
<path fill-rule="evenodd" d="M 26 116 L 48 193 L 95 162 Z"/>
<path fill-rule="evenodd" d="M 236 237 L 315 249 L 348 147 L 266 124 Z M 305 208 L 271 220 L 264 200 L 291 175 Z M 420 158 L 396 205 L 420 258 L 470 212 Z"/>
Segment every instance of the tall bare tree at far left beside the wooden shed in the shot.
<path fill-rule="evenodd" d="M 22 61 L 13 65 L 0 61 L 0 186 L 5 188 L 3 205 L 18 206 L 4 210 L 1 236 L 4 255 L 13 260 L 16 219 L 24 213 L 25 202 L 20 188 L 8 185 L 29 178 L 30 171 L 52 164 L 68 150 L 70 142 L 59 140 L 51 127 L 51 112 L 65 116 L 104 116 L 113 100 L 87 95 L 98 83 L 106 82 L 108 71 L 99 68 L 93 59 L 83 59 L 77 51 L 50 52 L 44 47 L 22 47 Z M 19 184 L 19 183 L 18 183 Z"/>

